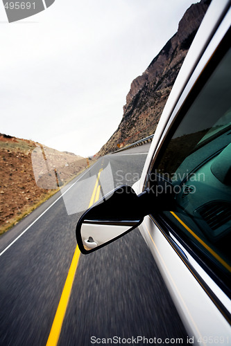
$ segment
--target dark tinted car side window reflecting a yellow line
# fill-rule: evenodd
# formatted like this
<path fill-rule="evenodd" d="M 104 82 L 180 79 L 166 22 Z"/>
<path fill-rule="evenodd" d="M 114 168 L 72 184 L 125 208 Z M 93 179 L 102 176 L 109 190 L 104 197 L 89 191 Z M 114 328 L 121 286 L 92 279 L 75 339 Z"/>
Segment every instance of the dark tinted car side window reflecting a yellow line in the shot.
<path fill-rule="evenodd" d="M 216 273 L 231 271 L 231 50 L 171 136 L 152 173 L 176 193 L 162 216 Z"/>

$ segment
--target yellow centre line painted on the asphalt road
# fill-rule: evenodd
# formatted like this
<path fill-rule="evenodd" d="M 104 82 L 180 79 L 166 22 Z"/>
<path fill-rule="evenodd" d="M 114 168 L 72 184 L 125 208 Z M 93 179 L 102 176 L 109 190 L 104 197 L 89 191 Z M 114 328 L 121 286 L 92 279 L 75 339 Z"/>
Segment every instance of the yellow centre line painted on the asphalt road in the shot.
<path fill-rule="evenodd" d="M 90 208 L 92 204 L 94 204 L 99 199 L 99 194 L 101 189 L 101 185 L 99 185 L 99 176 L 101 175 L 102 170 L 103 168 L 99 170 L 99 173 L 97 175 L 96 184 L 94 185 L 94 190 L 92 192 L 92 197 L 90 199 L 88 208 Z M 60 302 L 58 304 L 58 309 L 55 313 L 55 318 L 53 320 L 53 324 L 51 327 L 51 331 L 50 331 L 46 346 L 56 346 L 58 344 L 58 339 L 60 337 L 60 332 L 62 329 L 62 323 L 65 318 L 65 313 L 67 311 L 67 304 L 69 302 L 71 289 L 74 282 L 74 277 L 76 275 L 76 269 L 78 266 L 79 256 L 80 256 L 80 251 L 78 249 L 78 246 L 76 246 L 76 251 L 74 252 L 74 256 L 71 261 L 71 266 L 69 268 L 65 286 L 62 290 L 62 295 L 60 298 Z"/>

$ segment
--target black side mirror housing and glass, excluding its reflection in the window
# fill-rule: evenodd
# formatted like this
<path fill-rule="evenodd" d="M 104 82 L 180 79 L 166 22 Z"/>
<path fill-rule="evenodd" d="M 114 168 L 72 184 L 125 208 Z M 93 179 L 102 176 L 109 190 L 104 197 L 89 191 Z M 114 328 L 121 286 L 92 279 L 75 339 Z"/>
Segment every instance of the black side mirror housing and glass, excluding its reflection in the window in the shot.
<path fill-rule="evenodd" d="M 80 251 L 91 253 L 139 226 L 144 215 L 138 202 L 135 191 L 124 185 L 89 208 L 76 226 Z"/>

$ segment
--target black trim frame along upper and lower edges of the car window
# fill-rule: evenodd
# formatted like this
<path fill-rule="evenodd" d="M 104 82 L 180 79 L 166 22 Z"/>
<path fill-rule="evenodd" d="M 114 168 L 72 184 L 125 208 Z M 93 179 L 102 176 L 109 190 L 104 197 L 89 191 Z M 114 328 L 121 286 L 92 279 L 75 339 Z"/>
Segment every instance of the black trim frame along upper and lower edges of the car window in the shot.
<path fill-rule="evenodd" d="M 162 139 L 161 144 L 158 147 L 157 154 L 155 153 L 155 157 L 153 157 L 153 160 L 151 161 L 151 164 L 148 169 L 148 174 L 146 176 L 146 181 L 144 183 L 144 189 L 148 187 L 148 183 L 149 183 L 148 179 L 150 177 L 150 174 L 153 170 L 155 170 L 155 167 L 157 167 L 157 165 L 160 163 L 160 160 L 166 150 L 166 147 L 169 145 L 169 141 L 171 140 L 173 134 L 175 133 L 178 126 L 180 125 L 182 118 L 185 117 L 185 115 L 187 114 L 187 111 L 189 110 L 191 105 L 194 103 L 194 100 L 196 100 L 198 94 L 205 86 L 207 80 L 209 80 L 210 75 L 212 75 L 213 71 L 216 69 L 216 66 L 219 65 L 225 53 L 227 53 L 228 50 L 230 49 L 230 46 L 229 46 L 230 41 L 231 41 L 231 28 L 229 28 L 229 30 L 223 36 L 223 39 L 221 40 L 221 42 L 219 42 L 218 46 L 216 46 L 214 53 L 209 58 L 209 60 L 207 61 L 207 64 L 205 64 L 204 69 L 201 71 L 200 75 L 196 79 L 196 82 L 194 83 L 194 85 L 191 87 L 191 89 L 185 96 L 185 99 L 183 100 L 180 109 L 178 109 L 178 111 L 176 112 L 176 116 L 174 117 L 174 119 L 171 120 L 171 117 L 170 117 L 169 122 L 171 122 L 171 125 L 166 131 L 166 134 L 164 138 Z M 176 107 L 174 108 L 172 114 L 174 113 Z M 182 257 L 182 249 L 179 250 L 178 246 L 176 246 L 176 244 L 174 244 L 174 242 L 172 241 L 171 236 L 169 234 L 169 229 L 173 233 L 174 237 L 176 237 L 178 242 L 182 245 L 182 248 L 183 249 L 185 248 L 185 250 L 189 252 L 192 257 L 194 257 L 196 262 L 198 262 L 198 264 L 203 268 L 203 270 L 205 270 L 205 272 L 209 275 L 209 277 L 211 277 L 212 280 L 214 280 L 214 282 L 218 284 L 218 286 L 222 289 L 222 291 L 224 291 L 226 295 L 231 297 L 230 287 L 228 286 L 226 282 L 224 282 L 223 277 L 219 277 L 219 275 L 217 275 L 216 266 L 213 266 L 211 264 L 211 261 L 208 261 L 207 257 L 201 254 L 200 249 L 198 250 L 195 244 L 189 245 L 189 241 L 187 237 L 186 239 L 183 239 L 184 237 L 180 237 L 178 232 L 176 231 L 177 226 L 175 224 L 171 224 L 171 221 L 169 219 L 166 220 L 165 218 L 163 218 L 159 212 L 153 211 L 152 215 L 150 216 L 155 222 L 155 224 L 157 224 L 158 228 L 162 231 L 164 236 L 168 238 L 171 245 L 175 248 L 176 252 L 178 252 L 178 255 Z M 185 258 L 183 258 L 183 260 L 185 261 Z M 198 273 L 196 273 L 196 277 L 199 277 Z M 201 278 L 199 279 L 199 281 L 202 282 Z M 228 316 L 229 313 L 225 313 L 225 315 Z"/>

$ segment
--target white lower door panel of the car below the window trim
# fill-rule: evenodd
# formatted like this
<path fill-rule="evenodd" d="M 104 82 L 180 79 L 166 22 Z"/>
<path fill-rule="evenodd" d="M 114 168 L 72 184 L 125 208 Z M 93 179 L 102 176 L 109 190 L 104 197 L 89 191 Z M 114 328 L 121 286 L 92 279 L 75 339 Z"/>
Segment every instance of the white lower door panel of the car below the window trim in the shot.
<path fill-rule="evenodd" d="M 166 237 L 150 216 L 144 218 L 142 228 L 139 228 L 151 249 L 189 336 L 194 336 L 194 343 L 209 336 L 213 340 L 215 336 L 230 338 L 229 322 L 209 297 L 206 288 L 201 286 L 189 269 L 187 258 L 184 255 L 180 256 L 166 241 Z"/>

